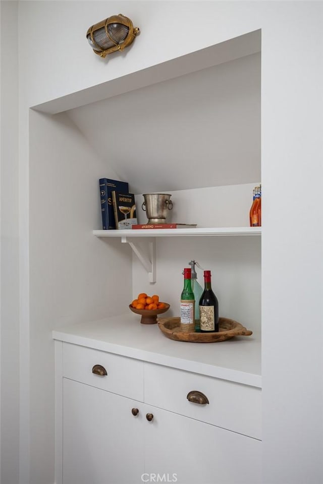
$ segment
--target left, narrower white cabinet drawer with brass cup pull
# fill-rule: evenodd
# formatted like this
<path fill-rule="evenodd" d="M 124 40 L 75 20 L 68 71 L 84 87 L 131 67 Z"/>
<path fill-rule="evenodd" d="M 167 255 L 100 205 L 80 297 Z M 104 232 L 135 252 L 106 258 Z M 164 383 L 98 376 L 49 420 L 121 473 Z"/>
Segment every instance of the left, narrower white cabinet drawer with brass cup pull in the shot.
<path fill-rule="evenodd" d="M 107 375 L 93 374 L 95 365 Z M 137 359 L 63 343 L 63 377 L 143 401 L 143 362 Z"/>

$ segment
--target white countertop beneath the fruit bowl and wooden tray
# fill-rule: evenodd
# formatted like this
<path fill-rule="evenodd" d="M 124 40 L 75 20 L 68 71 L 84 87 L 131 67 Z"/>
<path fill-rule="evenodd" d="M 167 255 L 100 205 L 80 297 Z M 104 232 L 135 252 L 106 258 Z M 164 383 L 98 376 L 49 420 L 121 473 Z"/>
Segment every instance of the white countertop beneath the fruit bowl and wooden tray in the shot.
<path fill-rule="evenodd" d="M 260 334 L 218 343 L 173 341 L 124 314 L 56 329 L 53 339 L 261 388 Z"/>

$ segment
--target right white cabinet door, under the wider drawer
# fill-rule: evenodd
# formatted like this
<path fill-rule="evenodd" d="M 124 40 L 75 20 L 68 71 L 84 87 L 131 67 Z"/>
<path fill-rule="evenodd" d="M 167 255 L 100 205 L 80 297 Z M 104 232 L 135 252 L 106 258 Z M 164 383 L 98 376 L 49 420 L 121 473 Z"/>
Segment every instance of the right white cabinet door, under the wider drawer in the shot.
<path fill-rule="evenodd" d="M 149 411 L 144 482 L 158 474 L 177 484 L 261 482 L 261 441 L 166 410 Z"/>

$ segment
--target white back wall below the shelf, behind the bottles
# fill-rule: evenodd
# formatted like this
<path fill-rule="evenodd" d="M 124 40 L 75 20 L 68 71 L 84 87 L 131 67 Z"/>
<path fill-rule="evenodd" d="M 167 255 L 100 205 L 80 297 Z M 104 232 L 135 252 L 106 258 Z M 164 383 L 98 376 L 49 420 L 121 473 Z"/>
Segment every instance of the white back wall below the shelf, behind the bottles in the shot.
<path fill-rule="evenodd" d="M 144 245 L 143 245 L 144 246 Z M 196 260 L 211 270 L 212 288 L 219 300 L 221 317 L 234 319 L 258 334 L 261 322 L 260 240 L 258 237 L 178 237 L 156 240 L 156 283 L 148 282 L 139 259 L 133 259 L 133 298 L 140 292 L 159 294 L 171 305 L 167 317 L 179 316 L 183 289 L 182 272 Z M 197 269 L 198 282 L 204 287 L 203 271 Z M 180 348 L 179 348 L 180 351 Z"/>

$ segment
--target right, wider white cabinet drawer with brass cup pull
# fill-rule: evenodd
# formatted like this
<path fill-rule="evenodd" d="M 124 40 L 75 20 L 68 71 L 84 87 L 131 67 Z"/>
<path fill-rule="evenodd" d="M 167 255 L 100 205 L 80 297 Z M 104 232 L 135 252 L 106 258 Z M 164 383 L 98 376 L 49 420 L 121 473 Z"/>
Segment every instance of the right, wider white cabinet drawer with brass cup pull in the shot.
<path fill-rule="evenodd" d="M 144 401 L 218 427 L 261 439 L 261 389 L 145 363 Z M 208 404 L 192 403 L 191 391 Z"/>

